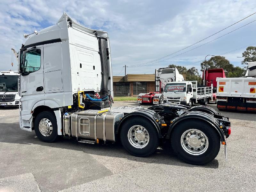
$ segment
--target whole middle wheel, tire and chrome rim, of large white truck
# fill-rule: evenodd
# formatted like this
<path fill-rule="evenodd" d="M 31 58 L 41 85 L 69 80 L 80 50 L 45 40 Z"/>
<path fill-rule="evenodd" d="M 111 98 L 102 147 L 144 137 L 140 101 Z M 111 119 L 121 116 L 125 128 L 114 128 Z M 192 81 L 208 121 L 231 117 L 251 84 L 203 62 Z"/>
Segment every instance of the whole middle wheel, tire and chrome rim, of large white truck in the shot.
<path fill-rule="evenodd" d="M 128 119 L 121 127 L 120 140 L 124 148 L 134 156 L 145 157 L 158 147 L 155 126 L 144 118 Z"/>

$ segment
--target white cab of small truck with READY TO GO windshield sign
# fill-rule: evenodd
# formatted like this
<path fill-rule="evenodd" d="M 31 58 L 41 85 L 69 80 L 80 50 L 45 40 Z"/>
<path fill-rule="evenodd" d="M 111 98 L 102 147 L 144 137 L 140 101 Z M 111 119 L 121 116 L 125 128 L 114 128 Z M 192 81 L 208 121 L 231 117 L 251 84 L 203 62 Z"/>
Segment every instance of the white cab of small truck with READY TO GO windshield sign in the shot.
<path fill-rule="evenodd" d="M 164 102 L 187 105 L 193 104 L 192 82 L 170 82 L 164 88 Z"/>

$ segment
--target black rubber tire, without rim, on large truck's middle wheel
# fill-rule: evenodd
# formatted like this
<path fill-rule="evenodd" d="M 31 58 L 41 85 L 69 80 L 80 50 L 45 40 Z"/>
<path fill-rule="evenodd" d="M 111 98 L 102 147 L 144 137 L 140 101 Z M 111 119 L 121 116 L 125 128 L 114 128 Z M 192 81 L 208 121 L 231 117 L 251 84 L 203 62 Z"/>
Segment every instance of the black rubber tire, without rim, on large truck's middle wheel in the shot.
<path fill-rule="evenodd" d="M 128 140 L 129 129 L 134 125 L 140 125 L 147 129 L 149 135 L 148 144 L 144 148 L 135 148 Z M 124 148 L 134 156 L 145 157 L 156 151 L 159 146 L 158 134 L 155 126 L 144 118 L 135 117 L 126 120 L 121 127 L 120 140 Z"/>

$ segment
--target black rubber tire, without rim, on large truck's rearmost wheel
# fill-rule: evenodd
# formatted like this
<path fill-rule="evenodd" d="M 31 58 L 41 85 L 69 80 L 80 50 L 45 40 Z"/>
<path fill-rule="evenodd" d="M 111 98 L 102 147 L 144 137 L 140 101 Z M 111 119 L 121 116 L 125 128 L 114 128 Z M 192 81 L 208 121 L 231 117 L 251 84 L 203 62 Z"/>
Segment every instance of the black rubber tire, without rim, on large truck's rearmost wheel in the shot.
<path fill-rule="evenodd" d="M 212 161 L 220 151 L 220 137 L 218 133 L 214 130 L 214 128 L 210 127 L 211 125 L 196 120 L 187 120 L 185 122 L 181 122 L 177 126 L 175 126 L 172 135 L 171 135 L 171 143 L 173 151 L 177 154 L 177 156 L 189 163 L 189 164 L 206 164 Z M 182 134 L 189 129 L 197 129 L 203 132 L 208 138 L 208 148 L 203 154 L 200 155 L 191 155 L 187 151 L 182 148 L 181 145 L 181 136 Z"/>

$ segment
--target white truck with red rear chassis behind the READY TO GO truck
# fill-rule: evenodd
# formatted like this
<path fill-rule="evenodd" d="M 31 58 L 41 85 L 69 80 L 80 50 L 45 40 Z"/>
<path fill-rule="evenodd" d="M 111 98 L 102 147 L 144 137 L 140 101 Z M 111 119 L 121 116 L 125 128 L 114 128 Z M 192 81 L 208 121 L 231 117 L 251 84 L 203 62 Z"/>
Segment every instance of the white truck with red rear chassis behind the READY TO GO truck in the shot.
<path fill-rule="evenodd" d="M 140 93 L 137 96 L 137 102 L 140 104 L 162 104 L 164 103 L 164 87 L 168 82 L 184 81 L 184 77 L 179 73 L 176 67 L 159 68 L 155 73 L 156 91 L 149 93 Z"/>

